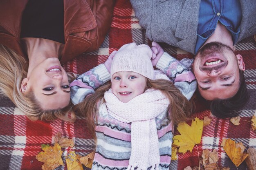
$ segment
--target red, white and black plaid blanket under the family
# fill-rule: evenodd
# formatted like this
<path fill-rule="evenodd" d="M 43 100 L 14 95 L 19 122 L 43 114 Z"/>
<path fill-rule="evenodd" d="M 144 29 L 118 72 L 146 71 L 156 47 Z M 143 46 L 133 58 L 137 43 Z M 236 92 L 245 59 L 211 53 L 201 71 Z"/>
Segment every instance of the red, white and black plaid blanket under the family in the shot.
<path fill-rule="evenodd" d="M 128 0 L 117 0 L 114 9 L 112 25 L 105 41 L 99 50 L 92 53 L 85 53 L 74 60 L 63 64 L 66 71 L 77 74 L 84 73 L 92 67 L 97 66 L 108 58 L 108 55 L 118 50 L 122 45 L 136 42 L 137 44 L 148 44 L 151 42 L 146 38 L 145 30 L 141 29 L 135 17 L 130 2 Z M 181 49 L 160 44 L 166 52 L 178 58 L 193 58 L 193 55 Z M 236 53 L 243 56 L 245 62 L 245 79 L 250 93 L 249 103 L 240 112 L 240 125 L 231 124 L 229 119 L 212 119 L 211 124 L 203 129 L 201 144 L 198 145 L 200 155 L 203 149 L 216 149 L 220 157 L 218 163 L 222 166 L 237 170 L 234 164 L 227 157 L 227 154 L 220 146 L 222 138 L 231 138 L 236 142 L 242 142 L 244 146 L 256 148 L 256 132 L 251 128 L 251 117 L 256 109 L 256 43 L 253 37 L 246 38 L 235 45 Z M 196 111 L 192 117 L 209 116 L 209 105 L 194 97 Z M 92 151 L 94 142 L 88 134 L 85 120 L 77 117 L 74 124 L 67 124 L 64 121 L 53 122 L 30 121 L 5 97 L 0 98 L 0 170 L 40 170 L 43 164 L 36 159 L 36 155 L 41 151 L 42 144 L 54 143 L 53 137 L 61 132 L 62 136 L 74 139 L 74 150 L 79 155 L 85 156 Z M 245 121 L 247 120 L 247 121 Z M 178 132 L 175 130 L 175 135 Z M 65 152 L 63 152 L 65 154 Z M 186 152 L 184 155 L 177 154 L 178 160 L 172 161 L 171 170 L 183 170 L 186 166 L 198 166 L 198 153 L 194 148 L 192 153 Z M 65 163 L 65 157 L 63 157 Z M 66 170 L 67 167 L 60 166 L 58 170 Z M 239 170 L 246 170 L 247 166 L 243 162 Z"/>

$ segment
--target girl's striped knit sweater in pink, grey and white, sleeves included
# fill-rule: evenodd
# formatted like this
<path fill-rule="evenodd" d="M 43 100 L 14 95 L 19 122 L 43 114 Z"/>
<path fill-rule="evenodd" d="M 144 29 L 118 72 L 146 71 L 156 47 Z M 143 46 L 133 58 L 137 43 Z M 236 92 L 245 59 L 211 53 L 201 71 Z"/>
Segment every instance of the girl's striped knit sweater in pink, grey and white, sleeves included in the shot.
<path fill-rule="evenodd" d="M 196 89 L 195 77 L 191 71 L 168 53 L 162 55 L 156 67 L 171 78 L 184 96 L 191 98 Z M 83 73 L 70 84 L 72 102 L 78 104 L 108 80 L 110 74 L 104 64 Z M 167 115 L 168 113 L 162 113 L 155 118 L 159 138 L 160 170 L 168 170 L 171 162 L 173 125 L 168 121 Z M 131 125 L 111 117 L 105 103 L 100 105 L 97 117 L 97 148 L 92 169 L 126 170 L 131 154 Z"/>

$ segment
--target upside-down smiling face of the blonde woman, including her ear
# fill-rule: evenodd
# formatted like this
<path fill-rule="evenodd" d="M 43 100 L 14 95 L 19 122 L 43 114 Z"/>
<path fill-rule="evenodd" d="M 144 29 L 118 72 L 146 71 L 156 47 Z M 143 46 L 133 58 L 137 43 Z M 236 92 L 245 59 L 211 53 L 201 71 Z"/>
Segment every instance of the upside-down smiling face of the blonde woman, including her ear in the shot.
<path fill-rule="evenodd" d="M 64 108 L 70 102 L 67 73 L 58 58 L 47 58 L 34 67 L 29 77 L 23 79 L 23 93 L 33 91 L 43 110 Z"/>

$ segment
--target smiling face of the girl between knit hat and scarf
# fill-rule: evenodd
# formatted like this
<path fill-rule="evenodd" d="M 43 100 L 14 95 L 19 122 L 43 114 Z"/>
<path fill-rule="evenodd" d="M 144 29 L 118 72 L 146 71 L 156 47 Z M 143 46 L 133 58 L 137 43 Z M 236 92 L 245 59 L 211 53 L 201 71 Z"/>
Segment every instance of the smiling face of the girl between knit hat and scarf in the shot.
<path fill-rule="evenodd" d="M 144 93 L 147 86 L 146 77 L 132 71 L 119 71 L 113 74 L 111 83 L 112 92 L 123 103 Z"/>

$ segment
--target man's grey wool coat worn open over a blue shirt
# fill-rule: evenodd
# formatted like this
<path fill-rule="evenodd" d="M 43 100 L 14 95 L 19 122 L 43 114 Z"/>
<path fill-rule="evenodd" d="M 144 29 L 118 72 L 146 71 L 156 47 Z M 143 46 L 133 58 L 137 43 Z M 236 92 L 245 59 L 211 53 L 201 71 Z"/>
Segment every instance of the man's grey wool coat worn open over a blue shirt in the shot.
<path fill-rule="evenodd" d="M 150 40 L 166 42 L 195 54 L 200 0 L 130 0 Z M 256 0 L 240 0 L 238 42 L 256 34 Z"/>

